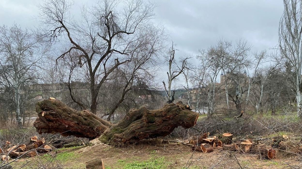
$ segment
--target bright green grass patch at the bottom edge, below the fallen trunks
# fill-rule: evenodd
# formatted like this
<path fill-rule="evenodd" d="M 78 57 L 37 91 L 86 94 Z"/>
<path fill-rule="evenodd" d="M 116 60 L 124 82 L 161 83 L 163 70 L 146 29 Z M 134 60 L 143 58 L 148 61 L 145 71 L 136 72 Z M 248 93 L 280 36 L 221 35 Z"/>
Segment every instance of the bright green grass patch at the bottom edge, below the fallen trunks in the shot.
<path fill-rule="evenodd" d="M 152 157 L 146 161 L 132 161 L 127 163 L 125 160 L 118 160 L 120 168 L 124 169 L 165 169 L 168 165 L 168 162 L 165 160 L 165 157 L 155 158 Z"/>

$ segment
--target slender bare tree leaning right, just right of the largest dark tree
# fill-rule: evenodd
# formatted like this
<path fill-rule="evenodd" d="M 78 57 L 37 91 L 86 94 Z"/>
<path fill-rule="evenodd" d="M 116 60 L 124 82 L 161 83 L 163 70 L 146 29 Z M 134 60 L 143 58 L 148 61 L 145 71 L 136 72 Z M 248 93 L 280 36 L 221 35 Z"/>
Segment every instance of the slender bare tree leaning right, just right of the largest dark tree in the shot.
<path fill-rule="evenodd" d="M 158 65 L 157 60 L 160 59 L 159 55 L 164 49 L 163 40 L 165 40 L 165 34 L 156 28 L 147 29 L 146 31 L 148 32 L 140 32 L 144 38 L 140 38 L 137 41 L 140 44 L 136 45 L 137 47 L 128 55 L 128 60 L 131 60 L 131 62 L 125 63 L 117 69 L 115 76 L 120 74 L 118 81 L 122 82 L 121 93 L 117 102 L 110 109 L 108 121 L 111 120 L 112 115 L 114 115 L 120 104 L 128 98 L 128 92 L 131 90 L 152 90 L 150 86 L 152 86 L 151 83 L 156 75 L 154 70 Z M 118 60 L 116 61 L 118 62 Z"/>

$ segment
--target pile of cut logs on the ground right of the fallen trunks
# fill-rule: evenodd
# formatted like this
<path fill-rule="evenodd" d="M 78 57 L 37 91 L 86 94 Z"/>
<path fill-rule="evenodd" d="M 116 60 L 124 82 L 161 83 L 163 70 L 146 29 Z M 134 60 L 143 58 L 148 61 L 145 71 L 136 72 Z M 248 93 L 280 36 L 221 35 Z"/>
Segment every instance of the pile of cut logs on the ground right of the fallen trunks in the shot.
<path fill-rule="evenodd" d="M 214 149 L 222 149 L 223 151 L 238 151 L 240 153 L 257 154 L 259 158 L 274 159 L 276 151 L 269 145 L 253 142 L 250 139 L 233 143 L 233 134 L 224 133 L 222 135 L 209 137 L 210 133 L 204 133 L 199 137 L 193 137 L 186 144 L 192 146 L 193 151 L 202 151 L 204 153 L 212 152 Z"/>

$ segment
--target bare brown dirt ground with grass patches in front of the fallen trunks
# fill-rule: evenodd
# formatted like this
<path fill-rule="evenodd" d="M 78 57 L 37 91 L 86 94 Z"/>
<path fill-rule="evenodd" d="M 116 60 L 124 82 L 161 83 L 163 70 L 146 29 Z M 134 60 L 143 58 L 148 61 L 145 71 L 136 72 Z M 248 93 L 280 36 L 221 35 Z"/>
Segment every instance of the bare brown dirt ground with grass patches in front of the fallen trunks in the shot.
<path fill-rule="evenodd" d="M 98 141 L 91 146 L 63 148 L 35 158 L 25 158 L 13 163 L 14 168 L 40 168 L 33 161 L 40 161 L 43 168 L 85 169 L 85 162 L 101 158 L 106 169 L 198 169 L 198 168 L 301 168 L 301 159 L 281 157 L 274 160 L 259 159 L 255 154 L 214 150 L 210 153 L 194 152 L 178 143 L 140 143 L 126 148 L 114 148 Z M 45 158 L 47 160 L 37 160 Z M 57 161 L 58 166 L 50 165 Z M 41 166 L 41 164 L 39 164 Z M 36 167 L 35 167 L 36 166 Z M 46 167 L 45 167 L 46 166 Z M 61 168 L 62 168 L 61 167 Z"/>

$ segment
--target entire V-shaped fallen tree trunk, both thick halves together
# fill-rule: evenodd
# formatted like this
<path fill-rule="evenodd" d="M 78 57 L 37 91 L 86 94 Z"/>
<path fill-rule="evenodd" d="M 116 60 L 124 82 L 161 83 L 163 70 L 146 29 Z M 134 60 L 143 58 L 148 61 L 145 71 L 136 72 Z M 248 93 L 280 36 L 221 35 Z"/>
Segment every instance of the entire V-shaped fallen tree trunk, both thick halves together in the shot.
<path fill-rule="evenodd" d="M 43 100 L 36 104 L 38 118 L 34 122 L 39 134 L 61 133 L 64 136 L 97 138 L 105 144 L 131 143 L 146 138 L 169 135 L 174 128 L 190 128 L 198 119 L 183 104 L 166 104 L 162 109 L 145 107 L 127 112 L 124 119 L 113 125 L 88 110 L 76 111 L 57 100 Z"/>

